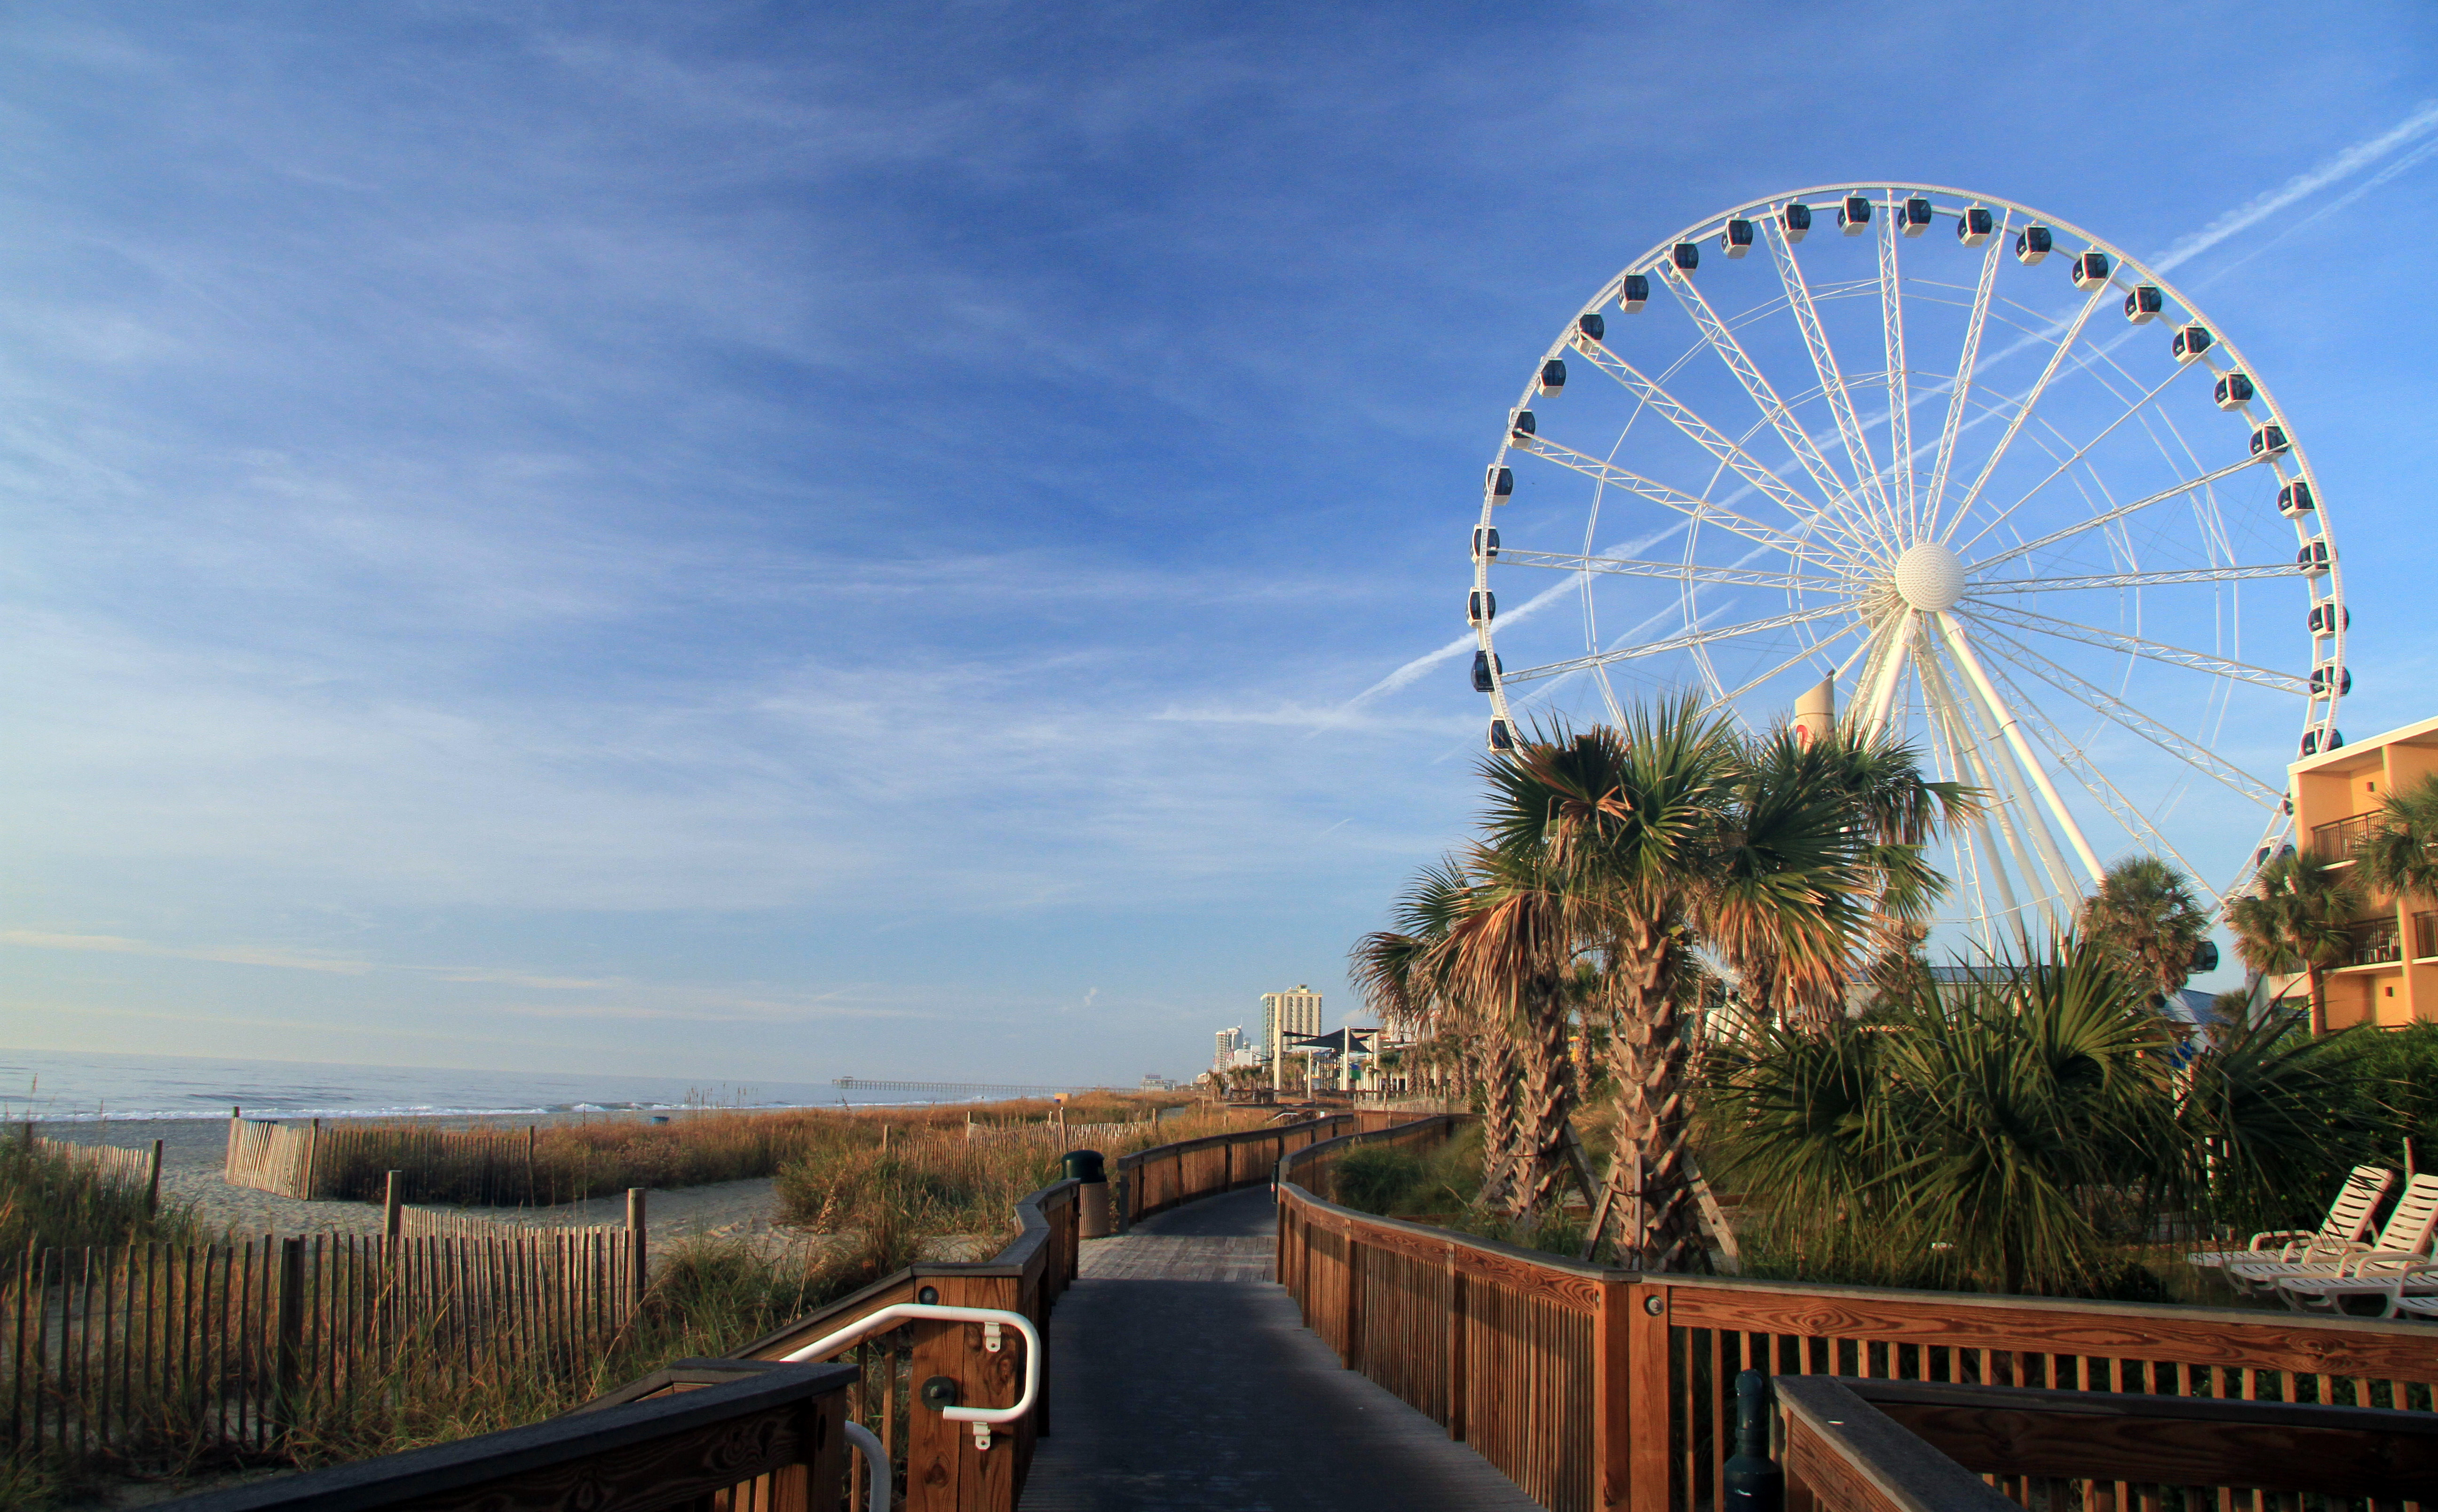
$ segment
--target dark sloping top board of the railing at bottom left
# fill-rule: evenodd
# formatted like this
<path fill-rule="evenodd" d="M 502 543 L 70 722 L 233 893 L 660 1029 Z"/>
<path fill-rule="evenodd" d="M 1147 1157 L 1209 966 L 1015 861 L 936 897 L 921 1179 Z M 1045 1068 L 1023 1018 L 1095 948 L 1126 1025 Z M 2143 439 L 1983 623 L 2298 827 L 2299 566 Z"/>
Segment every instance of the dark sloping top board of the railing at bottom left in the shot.
<path fill-rule="evenodd" d="M 573 1412 L 522 1429 L 434 1444 L 385 1453 L 354 1466 L 329 1471 L 302 1471 L 254 1485 L 210 1490 L 176 1502 L 161 1502 L 163 1512 L 266 1512 L 271 1507 L 312 1507 L 312 1512 L 371 1512 L 375 1507 L 400 1507 L 410 1502 L 436 1502 L 456 1497 L 480 1485 L 549 1471 L 600 1456 L 631 1456 L 651 1439 L 675 1439 L 700 1429 L 719 1427 L 739 1417 L 753 1417 L 812 1402 L 829 1393 L 846 1390 L 856 1378 L 853 1366 L 778 1366 L 727 1385 L 624 1402 L 602 1412 Z M 709 1495 L 761 1471 L 746 1471 L 719 1483 L 705 1483 L 692 1495 Z M 653 1505 L 668 1497 L 656 1497 Z"/>

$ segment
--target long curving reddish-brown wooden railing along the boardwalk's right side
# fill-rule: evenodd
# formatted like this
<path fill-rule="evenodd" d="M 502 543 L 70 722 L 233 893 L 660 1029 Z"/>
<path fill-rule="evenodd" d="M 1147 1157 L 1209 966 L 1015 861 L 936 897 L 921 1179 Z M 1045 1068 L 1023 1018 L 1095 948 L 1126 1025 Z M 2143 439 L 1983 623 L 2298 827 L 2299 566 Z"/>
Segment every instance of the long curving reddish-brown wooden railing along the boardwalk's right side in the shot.
<path fill-rule="evenodd" d="M 1338 1358 L 1551 1512 L 1724 1507 L 1743 1368 L 2358 1412 L 2428 1410 L 2438 1383 L 2438 1332 L 2411 1322 L 1646 1275 L 1324 1197 L 1358 1139 L 1453 1129 L 1290 1154 L 1278 1278 Z"/>

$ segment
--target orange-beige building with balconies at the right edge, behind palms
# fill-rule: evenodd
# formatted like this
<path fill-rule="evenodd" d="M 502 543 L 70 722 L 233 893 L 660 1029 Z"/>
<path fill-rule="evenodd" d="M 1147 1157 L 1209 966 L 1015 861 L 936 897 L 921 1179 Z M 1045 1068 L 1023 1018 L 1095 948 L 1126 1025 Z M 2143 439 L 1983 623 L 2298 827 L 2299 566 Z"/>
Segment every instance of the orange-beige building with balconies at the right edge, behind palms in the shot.
<path fill-rule="evenodd" d="M 2433 771 L 2438 719 L 2304 756 L 2287 768 L 2294 844 L 2321 861 L 2353 866 L 2353 841 L 2370 829 L 2379 802 Z M 2438 1019 L 2438 912 L 2431 900 L 2377 893 L 2353 924 L 2353 961 L 2328 973 L 2328 1027 L 2414 1019 Z"/>

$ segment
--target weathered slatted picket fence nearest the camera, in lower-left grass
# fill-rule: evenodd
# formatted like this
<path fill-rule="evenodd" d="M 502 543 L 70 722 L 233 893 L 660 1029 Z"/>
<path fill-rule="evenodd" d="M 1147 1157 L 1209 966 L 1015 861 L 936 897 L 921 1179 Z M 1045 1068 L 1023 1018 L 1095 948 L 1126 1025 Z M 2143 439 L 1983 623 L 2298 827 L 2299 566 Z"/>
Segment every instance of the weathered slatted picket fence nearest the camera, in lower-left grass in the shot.
<path fill-rule="evenodd" d="M 12 1458 L 246 1456 L 500 1353 L 575 1375 L 641 1300 L 624 1229 L 29 1249 L 0 1283 Z"/>

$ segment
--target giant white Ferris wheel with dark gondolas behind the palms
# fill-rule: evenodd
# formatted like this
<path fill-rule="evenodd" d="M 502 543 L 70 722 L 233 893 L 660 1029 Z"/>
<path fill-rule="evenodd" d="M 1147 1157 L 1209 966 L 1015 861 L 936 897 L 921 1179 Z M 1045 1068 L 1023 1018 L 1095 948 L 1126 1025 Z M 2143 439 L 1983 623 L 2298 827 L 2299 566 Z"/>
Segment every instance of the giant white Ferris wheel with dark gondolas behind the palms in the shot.
<path fill-rule="evenodd" d="M 1738 205 L 1602 285 L 1507 415 L 1465 615 L 1494 751 L 1680 688 L 1904 736 L 1985 793 L 1941 922 L 1987 949 L 2128 851 L 2231 893 L 2353 683 L 2262 376 L 2138 259 L 1933 185 Z"/>

